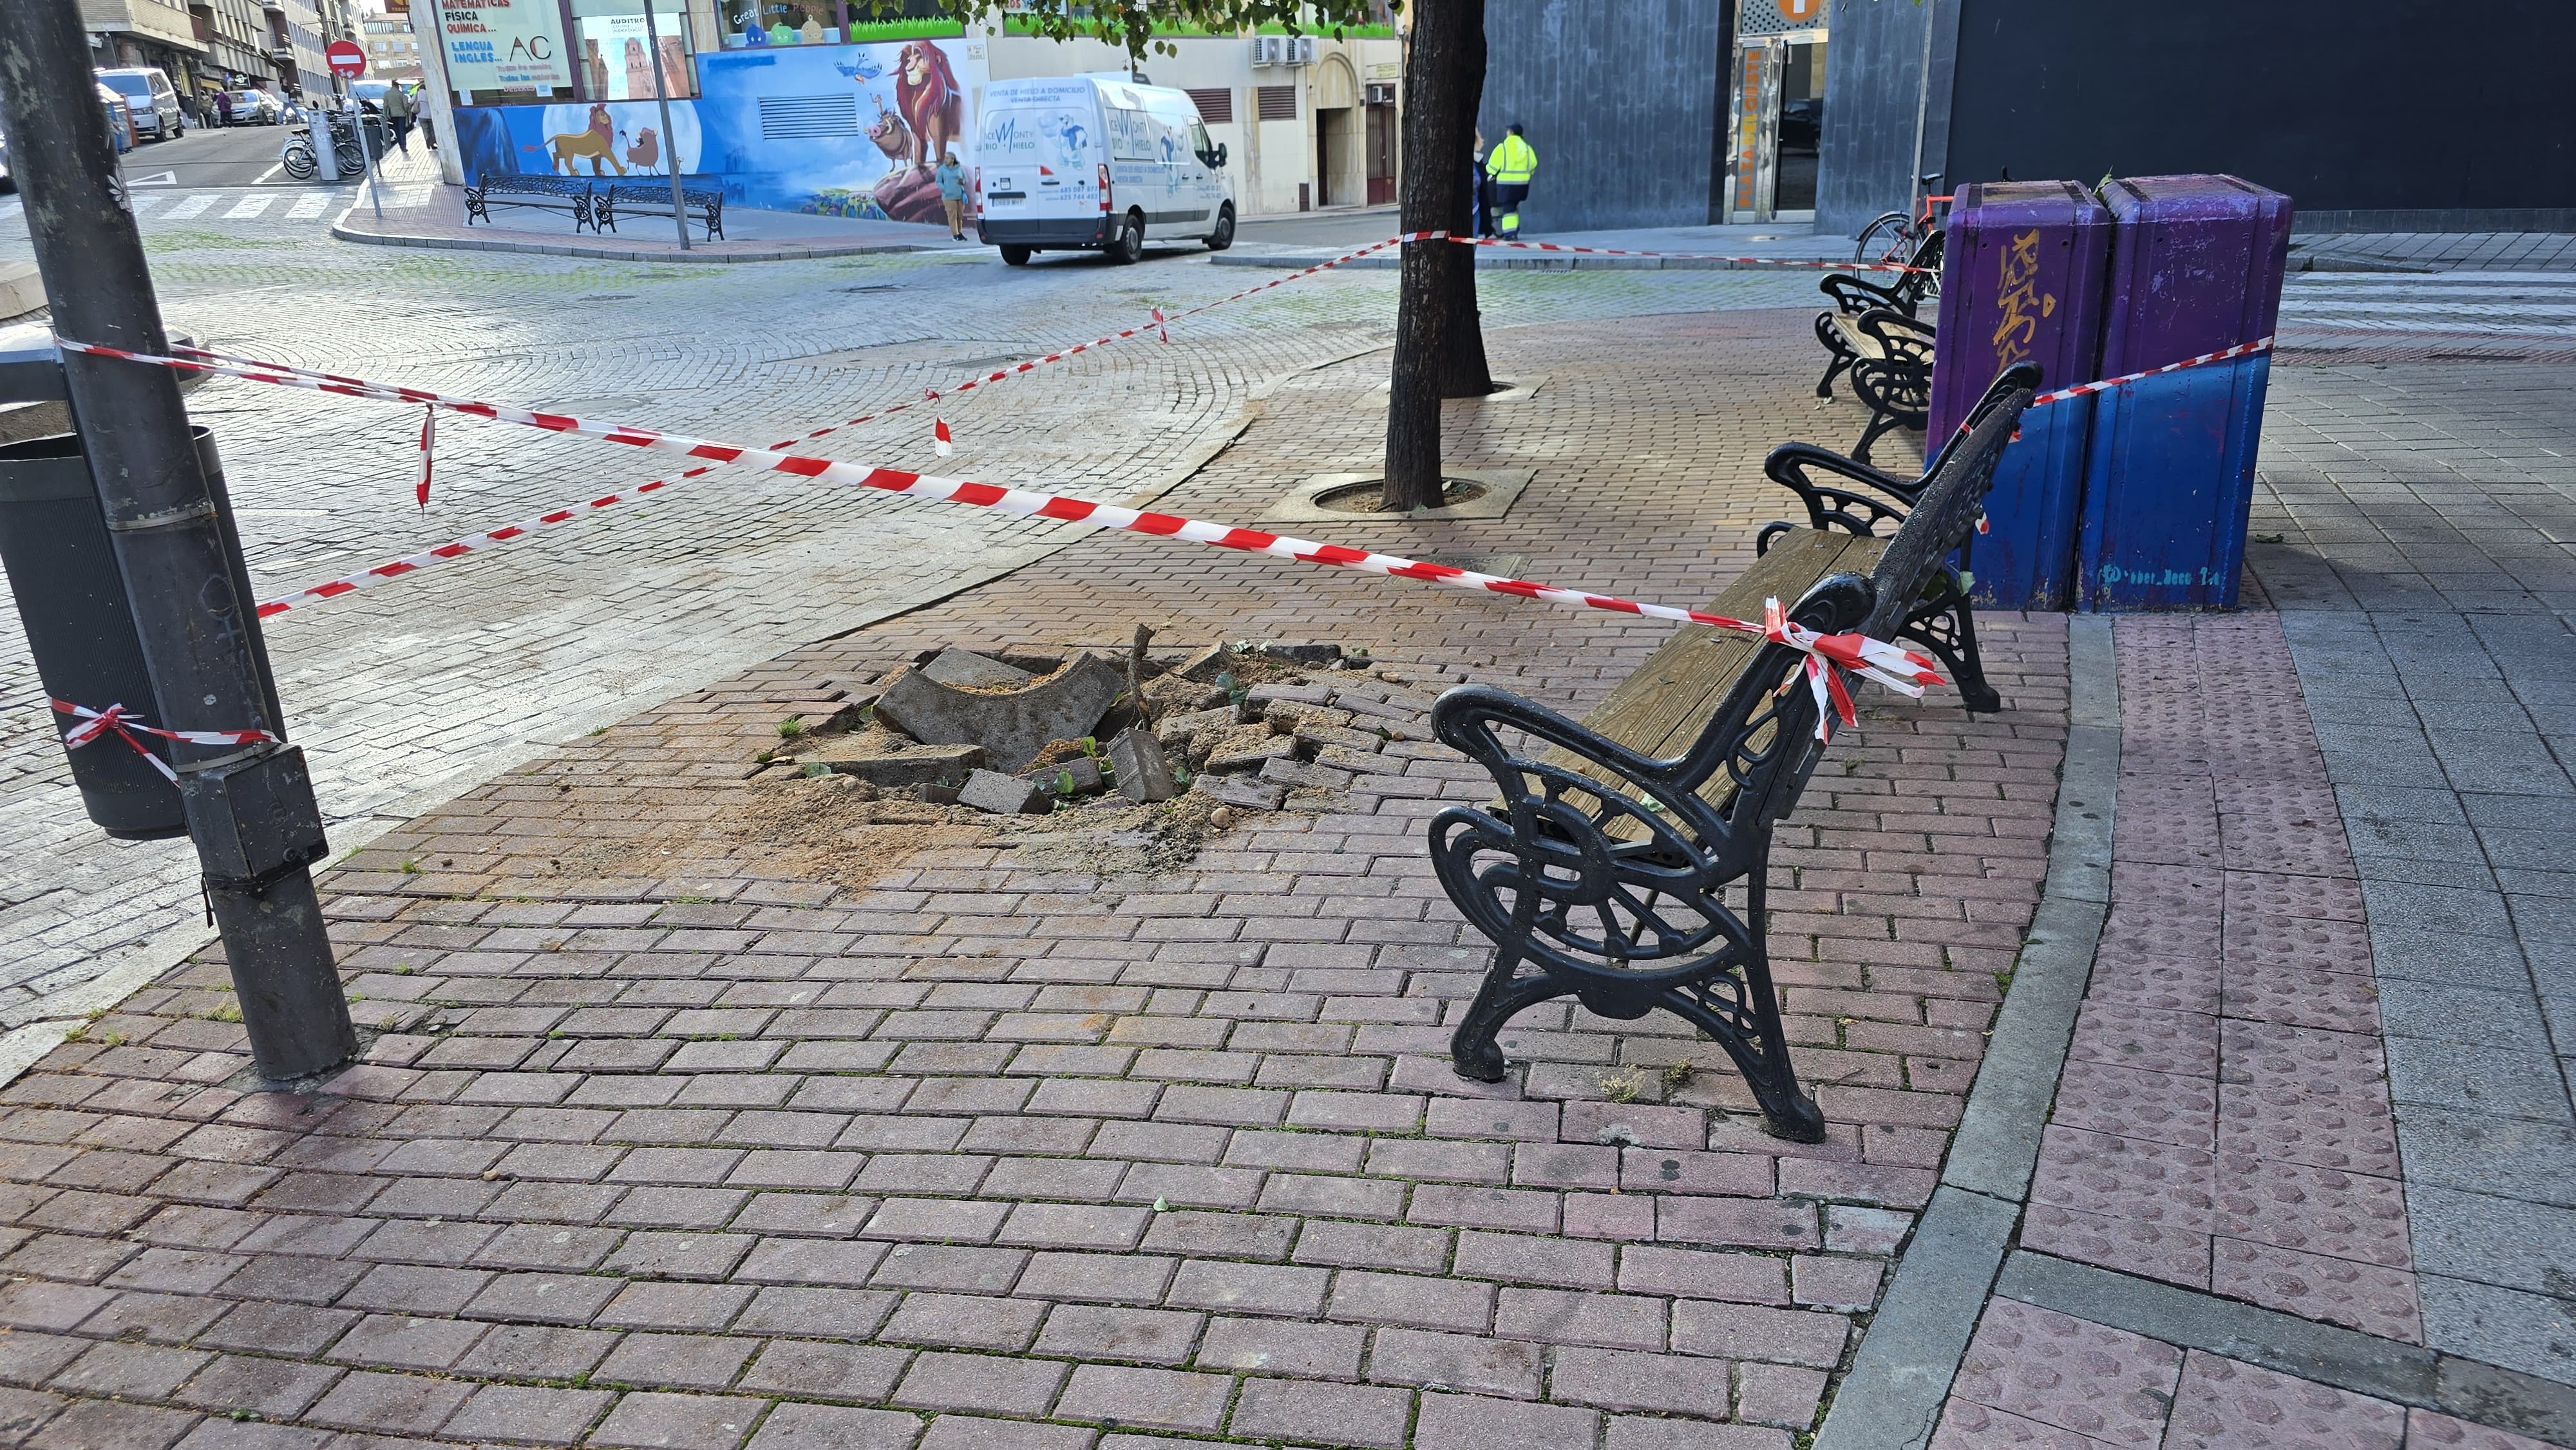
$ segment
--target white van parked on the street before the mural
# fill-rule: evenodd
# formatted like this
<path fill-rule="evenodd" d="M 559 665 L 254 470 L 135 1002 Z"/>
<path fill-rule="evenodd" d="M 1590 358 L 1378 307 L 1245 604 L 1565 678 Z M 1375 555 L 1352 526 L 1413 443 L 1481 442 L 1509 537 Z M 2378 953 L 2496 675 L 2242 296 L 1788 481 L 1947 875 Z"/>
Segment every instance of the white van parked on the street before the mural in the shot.
<path fill-rule="evenodd" d="M 1097 247 L 1133 263 L 1146 242 L 1234 245 L 1226 147 L 1185 90 L 1126 75 L 997 80 L 974 155 L 976 240 L 1030 252 Z"/>

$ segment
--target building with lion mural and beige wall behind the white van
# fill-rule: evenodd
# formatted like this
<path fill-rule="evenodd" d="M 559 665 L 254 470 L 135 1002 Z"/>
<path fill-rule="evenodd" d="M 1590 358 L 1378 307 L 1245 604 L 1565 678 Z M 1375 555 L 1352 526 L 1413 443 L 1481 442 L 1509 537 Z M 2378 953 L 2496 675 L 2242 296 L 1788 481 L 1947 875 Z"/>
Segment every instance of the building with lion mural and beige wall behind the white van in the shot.
<path fill-rule="evenodd" d="M 920 219 L 902 178 L 917 152 L 902 137 L 927 126 L 971 160 L 994 80 L 1128 72 L 1115 46 L 1038 39 L 999 13 L 974 26 L 876 21 L 866 0 L 654 0 L 649 36 L 641 0 L 422 5 L 417 23 L 433 124 L 461 137 L 440 152 L 456 167 L 448 180 L 549 162 L 616 175 L 677 157 L 688 173 L 726 178 L 732 203 L 907 221 Z M 654 100 L 654 41 L 672 137 Z M 1177 54 L 1149 57 L 1139 75 L 1198 100 L 1229 152 L 1242 216 L 1394 201 L 1391 23 L 1345 39 L 1175 33 L 1170 44 Z"/>

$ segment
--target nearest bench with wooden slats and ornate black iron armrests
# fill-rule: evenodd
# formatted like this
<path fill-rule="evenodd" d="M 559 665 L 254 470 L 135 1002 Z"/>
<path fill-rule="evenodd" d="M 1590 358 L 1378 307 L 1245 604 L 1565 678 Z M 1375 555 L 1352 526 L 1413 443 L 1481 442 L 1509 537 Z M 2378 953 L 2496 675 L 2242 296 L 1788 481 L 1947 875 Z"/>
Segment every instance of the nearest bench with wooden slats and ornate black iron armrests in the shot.
<path fill-rule="evenodd" d="M 1922 600 L 1945 595 L 1937 579 L 1973 536 L 2035 386 L 2038 368 L 2007 368 L 1893 507 L 1816 520 L 1811 500 L 1814 528 L 1767 528 L 1767 549 L 1708 613 L 1759 621 L 1765 600 L 1795 598 L 1788 616 L 1806 628 L 1919 639 L 1909 628 Z M 1780 453 L 1814 466 L 1821 451 Z M 1842 464 L 1852 482 L 1878 476 Z M 1878 536 L 1886 518 L 1896 531 Z M 1772 1136 L 1824 1141 L 1824 1115 L 1790 1069 L 1765 945 L 1772 827 L 1824 760 L 1803 662 L 1785 644 L 1682 626 L 1579 724 L 1494 685 L 1440 695 L 1432 731 L 1502 791 L 1430 827 L 1440 886 L 1494 943 L 1450 1038 L 1461 1077 L 1502 1082 L 1497 1033 L 1551 997 L 1613 1020 L 1664 1007 L 1726 1051 Z M 1507 729 L 1522 744 L 1507 744 Z"/>

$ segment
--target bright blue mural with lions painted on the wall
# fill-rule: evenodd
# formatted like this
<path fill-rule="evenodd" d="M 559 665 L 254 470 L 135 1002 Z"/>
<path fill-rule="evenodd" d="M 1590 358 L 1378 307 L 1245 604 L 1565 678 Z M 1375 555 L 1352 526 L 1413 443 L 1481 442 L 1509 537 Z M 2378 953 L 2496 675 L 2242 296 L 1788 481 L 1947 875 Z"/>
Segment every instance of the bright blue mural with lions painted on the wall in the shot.
<path fill-rule="evenodd" d="M 698 57 L 698 98 L 469 106 L 456 113 L 466 180 L 482 175 L 685 175 L 773 211 L 940 221 L 933 170 L 966 157 L 969 95 L 987 80 L 971 41 L 744 46 Z M 647 82 L 652 70 L 644 70 Z M 649 142 L 647 142 L 649 137 Z"/>

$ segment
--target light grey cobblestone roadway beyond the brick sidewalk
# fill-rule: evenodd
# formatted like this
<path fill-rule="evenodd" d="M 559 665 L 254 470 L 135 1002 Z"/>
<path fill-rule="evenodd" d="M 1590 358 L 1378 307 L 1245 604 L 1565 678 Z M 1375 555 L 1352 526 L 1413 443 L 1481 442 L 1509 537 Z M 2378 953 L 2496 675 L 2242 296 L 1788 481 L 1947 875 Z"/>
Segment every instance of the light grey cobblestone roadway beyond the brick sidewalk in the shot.
<path fill-rule="evenodd" d="M 987 361 L 1095 337 L 1149 304 L 1236 291 L 1247 273 L 1157 255 L 1005 270 L 989 255 L 665 268 L 330 242 L 270 201 L 144 214 L 173 327 L 255 355 L 446 391 L 773 443 L 920 397 Z M 180 216 L 180 214 L 188 216 Z M 26 255 L 23 221 L 0 255 Z M 1172 345 L 1128 343 L 943 407 L 953 471 L 1100 497 L 1167 482 L 1221 440 L 1252 386 L 1370 348 L 1388 276 L 1332 276 L 1213 312 Z M 1762 276 L 1489 283 L 1497 322 L 1793 301 Z M 255 384 L 209 384 L 260 590 L 291 590 L 425 543 L 657 476 L 652 458 L 451 420 L 440 484 L 412 507 L 417 420 Z M 819 440 L 840 458 L 930 466 L 927 420 Z M 291 734 L 335 837 L 487 780 L 549 742 L 938 598 L 1084 531 L 719 471 L 631 515 L 270 621 Z M 15 613 L 0 623 L 0 1025 L 88 1002 L 100 971 L 204 940 L 183 842 L 111 845 L 80 816 Z M 111 976 L 113 999 L 124 986 Z M 72 997 L 59 997 L 72 992 Z M 49 997 L 52 994 L 52 997 Z"/>

